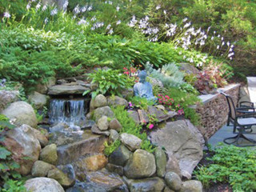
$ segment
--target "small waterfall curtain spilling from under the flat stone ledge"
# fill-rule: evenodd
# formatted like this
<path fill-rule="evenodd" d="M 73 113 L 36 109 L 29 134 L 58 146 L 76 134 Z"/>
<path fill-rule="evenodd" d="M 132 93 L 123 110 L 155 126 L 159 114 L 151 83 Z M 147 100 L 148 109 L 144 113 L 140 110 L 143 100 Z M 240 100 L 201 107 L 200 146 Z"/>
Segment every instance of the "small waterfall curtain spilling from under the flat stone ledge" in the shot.
<path fill-rule="evenodd" d="M 66 122 L 70 126 L 79 126 L 86 119 L 86 107 L 84 99 L 65 100 L 52 99 L 50 101 L 50 123 Z"/>

